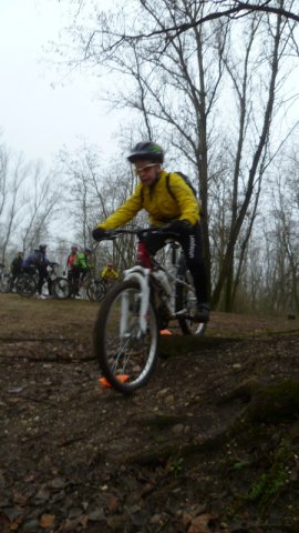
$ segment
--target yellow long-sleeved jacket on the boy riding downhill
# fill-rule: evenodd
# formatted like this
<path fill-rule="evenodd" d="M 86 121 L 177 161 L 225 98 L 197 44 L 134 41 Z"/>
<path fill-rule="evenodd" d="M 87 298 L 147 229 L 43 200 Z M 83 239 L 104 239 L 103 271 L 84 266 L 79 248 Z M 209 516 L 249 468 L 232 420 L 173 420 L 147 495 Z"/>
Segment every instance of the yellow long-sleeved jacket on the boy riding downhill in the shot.
<path fill-rule="evenodd" d="M 168 172 L 162 170 L 154 185 L 144 185 L 140 182 L 133 194 L 97 228 L 114 230 L 130 222 L 138 211 L 145 209 L 150 215 L 150 223 L 163 225 L 174 220 L 187 220 L 194 225 L 200 218 L 199 204 L 192 189 L 184 179 L 172 172 L 171 188 L 175 199 L 169 194 L 166 185 Z"/>

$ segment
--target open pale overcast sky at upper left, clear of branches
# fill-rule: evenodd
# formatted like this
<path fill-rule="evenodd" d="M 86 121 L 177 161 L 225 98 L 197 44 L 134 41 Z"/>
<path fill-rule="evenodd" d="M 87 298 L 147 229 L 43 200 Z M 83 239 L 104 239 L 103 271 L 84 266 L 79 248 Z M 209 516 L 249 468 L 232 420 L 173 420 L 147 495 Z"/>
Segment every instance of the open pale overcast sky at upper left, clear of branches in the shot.
<path fill-rule="evenodd" d="M 95 79 L 62 79 L 43 47 L 65 24 L 56 0 L 0 0 L 0 140 L 27 160 L 51 161 L 82 140 L 109 150 L 111 114 L 95 99 Z M 49 47 L 48 47 L 49 48 Z M 47 56 L 49 60 L 49 56 Z"/>

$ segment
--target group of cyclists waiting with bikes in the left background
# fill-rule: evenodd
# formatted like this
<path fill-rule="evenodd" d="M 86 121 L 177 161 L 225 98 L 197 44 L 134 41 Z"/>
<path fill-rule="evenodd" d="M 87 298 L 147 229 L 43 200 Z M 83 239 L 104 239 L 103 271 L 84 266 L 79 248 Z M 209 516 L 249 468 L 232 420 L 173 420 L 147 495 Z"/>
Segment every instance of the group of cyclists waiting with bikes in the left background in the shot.
<path fill-rule="evenodd" d="M 87 273 L 92 270 L 92 253 L 93 251 L 90 248 L 84 248 L 80 251 L 78 247 L 73 245 L 68 255 L 64 274 L 72 285 L 72 295 L 76 299 L 82 298 L 80 294 L 80 286 Z M 40 244 L 38 249 L 33 250 L 25 258 L 23 252 L 18 252 L 10 266 L 10 290 L 13 290 L 18 278 L 22 273 L 30 275 L 38 274 L 37 298 L 47 298 L 42 293 L 42 288 L 45 282 L 48 284 L 48 293 L 49 295 L 52 295 L 52 279 L 51 275 L 49 275 L 49 266 L 53 264 L 58 263 L 53 263 L 49 260 L 47 255 L 47 244 Z M 100 271 L 101 280 L 112 281 L 117 280 L 118 278 L 120 273 L 114 269 L 113 263 L 107 263 Z"/>

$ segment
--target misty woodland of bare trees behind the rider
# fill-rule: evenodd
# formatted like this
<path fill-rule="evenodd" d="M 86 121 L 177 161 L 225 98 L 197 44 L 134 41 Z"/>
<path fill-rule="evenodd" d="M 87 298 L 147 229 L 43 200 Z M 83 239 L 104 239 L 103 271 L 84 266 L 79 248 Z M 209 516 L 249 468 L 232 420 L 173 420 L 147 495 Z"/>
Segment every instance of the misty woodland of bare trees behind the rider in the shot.
<path fill-rule="evenodd" d="M 103 12 L 74 0 L 69 10 L 52 50 L 63 69 L 99 77 L 99 98 L 120 110 L 114 157 L 106 165 L 84 144 L 61 150 L 45 170 L 3 139 L 0 262 L 9 268 L 18 250 L 48 242 L 63 265 L 75 242 L 95 249 L 95 268 L 132 264 L 133 241 L 95 245 L 91 230 L 134 190 L 132 145 L 153 139 L 165 167 L 198 190 L 213 308 L 298 313 L 296 1 L 136 0 Z"/>

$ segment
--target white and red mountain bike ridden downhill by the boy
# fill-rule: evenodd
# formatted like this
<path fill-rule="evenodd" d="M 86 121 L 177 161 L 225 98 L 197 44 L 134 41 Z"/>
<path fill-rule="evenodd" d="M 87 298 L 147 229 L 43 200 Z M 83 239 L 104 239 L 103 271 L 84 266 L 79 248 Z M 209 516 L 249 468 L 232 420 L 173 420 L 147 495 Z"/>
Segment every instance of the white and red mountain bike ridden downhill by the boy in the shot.
<path fill-rule="evenodd" d="M 105 240 L 122 234 L 137 238 L 136 264 L 103 300 L 93 330 L 94 353 L 106 386 L 132 393 L 152 376 L 158 358 L 161 330 L 176 320 L 184 334 L 203 335 L 205 323 L 195 318 L 197 300 L 183 251 L 167 231 L 171 264 L 164 268 L 148 253 L 147 233 L 165 234 L 163 228 L 113 230 Z"/>

